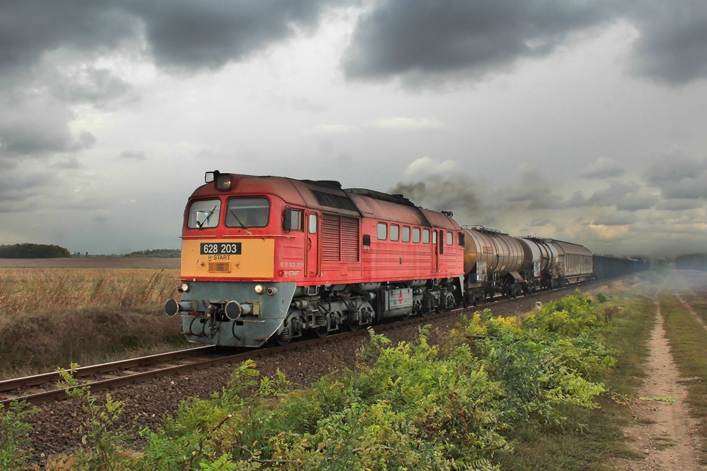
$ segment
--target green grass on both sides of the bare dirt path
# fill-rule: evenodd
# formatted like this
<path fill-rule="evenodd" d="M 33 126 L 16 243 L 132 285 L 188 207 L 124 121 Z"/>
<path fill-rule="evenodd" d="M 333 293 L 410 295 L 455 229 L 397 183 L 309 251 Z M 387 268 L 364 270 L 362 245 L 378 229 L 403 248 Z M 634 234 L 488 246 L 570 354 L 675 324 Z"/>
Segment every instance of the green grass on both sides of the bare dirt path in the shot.
<path fill-rule="evenodd" d="M 636 460 L 635 469 L 641 467 L 645 456 L 627 447 L 622 429 L 641 425 L 630 403 L 645 378 L 656 296 L 679 382 L 688 390 L 689 413 L 699 424 L 701 465 L 707 465 L 707 273 L 643 273 L 639 279 L 626 290 L 604 292 L 607 302 L 600 303 L 612 318 L 606 338 L 618 359 L 617 366 L 599 378 L 607 389 L 597 400 L 601 408 L 567 410 L 561 429 L 514 431 L 515 453 L 499 460 L 503 470 L 606 470 L 616 458 Z"/>

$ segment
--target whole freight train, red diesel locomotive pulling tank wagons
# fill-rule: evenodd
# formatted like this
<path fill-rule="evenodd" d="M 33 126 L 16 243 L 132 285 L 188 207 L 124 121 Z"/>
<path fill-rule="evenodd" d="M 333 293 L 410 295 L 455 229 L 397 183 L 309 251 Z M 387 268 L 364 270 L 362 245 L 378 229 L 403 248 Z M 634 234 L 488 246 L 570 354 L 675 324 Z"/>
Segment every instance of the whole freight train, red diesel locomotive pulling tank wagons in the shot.
<path fill-rule="evenodd" d="M 215 171 L 185 208 L 181 297 L 165 313 L 180 314 L 192 342 L 285 345 L 640 268 L 571 242 L 462 227 L 402 195 Z"/>

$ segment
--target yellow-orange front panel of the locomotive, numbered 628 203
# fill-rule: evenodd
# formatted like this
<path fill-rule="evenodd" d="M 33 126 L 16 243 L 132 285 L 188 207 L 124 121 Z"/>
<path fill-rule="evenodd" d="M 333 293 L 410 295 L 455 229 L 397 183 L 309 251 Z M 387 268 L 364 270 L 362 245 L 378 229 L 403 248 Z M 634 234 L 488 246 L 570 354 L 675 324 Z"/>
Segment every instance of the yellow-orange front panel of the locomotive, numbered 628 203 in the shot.
<path fill-rule="evenodd" d="M 183 277 L 273 278 L 274 259 L 274 239 L 182 240 Z"/>

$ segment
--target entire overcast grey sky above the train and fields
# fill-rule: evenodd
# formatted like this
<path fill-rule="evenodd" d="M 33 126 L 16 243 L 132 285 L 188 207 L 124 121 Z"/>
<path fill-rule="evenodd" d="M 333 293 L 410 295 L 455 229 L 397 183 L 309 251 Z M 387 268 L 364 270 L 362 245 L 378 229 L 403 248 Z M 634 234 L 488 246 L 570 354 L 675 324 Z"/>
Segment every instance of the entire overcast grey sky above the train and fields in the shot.
<path fill-rule="evenodd" d="M 0 244 L 179 248 L 204 172 L 707 251 L 706 0 L 7 0 Z"/>

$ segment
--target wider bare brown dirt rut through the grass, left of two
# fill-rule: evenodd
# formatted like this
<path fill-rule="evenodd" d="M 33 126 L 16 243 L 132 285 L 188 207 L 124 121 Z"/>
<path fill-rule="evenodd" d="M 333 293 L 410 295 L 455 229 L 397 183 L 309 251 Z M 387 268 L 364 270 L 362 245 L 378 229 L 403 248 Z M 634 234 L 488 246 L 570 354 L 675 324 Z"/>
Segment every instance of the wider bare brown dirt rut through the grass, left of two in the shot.
<path fill-rule="evenodd" d="M 686 388 L 678 383 L 679 373 L 665 338 L 660 304 L 655 303 L 657 318 L 650 339 L 650 357 L 645 365 L 645 379 L 638 391 L 644 398 L 664 400 L 634 400 L 631 403 L 636 425 L 625 430 L 631 447 L 643 453 L 641 461 L 619 460 L 618 470 L 685 470 L 704 471 L 699 465 L 699 441 L 695 436 L 696 422 L 689 416 L 685 403 Z"/>

